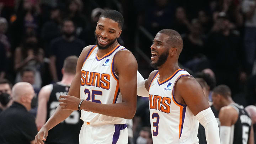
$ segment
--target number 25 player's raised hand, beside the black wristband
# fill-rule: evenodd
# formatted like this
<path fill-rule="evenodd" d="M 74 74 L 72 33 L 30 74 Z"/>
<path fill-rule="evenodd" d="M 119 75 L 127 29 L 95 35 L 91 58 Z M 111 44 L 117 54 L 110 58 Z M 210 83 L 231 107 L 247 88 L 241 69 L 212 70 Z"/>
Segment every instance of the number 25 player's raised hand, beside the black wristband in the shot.
<path fill-rule="evenodd" d="M 80 103 L 80 98 L 70 96 L 70 95 L 60 95 L 59 102 L 62 110 L 78 110 L 78 105 Z"/>

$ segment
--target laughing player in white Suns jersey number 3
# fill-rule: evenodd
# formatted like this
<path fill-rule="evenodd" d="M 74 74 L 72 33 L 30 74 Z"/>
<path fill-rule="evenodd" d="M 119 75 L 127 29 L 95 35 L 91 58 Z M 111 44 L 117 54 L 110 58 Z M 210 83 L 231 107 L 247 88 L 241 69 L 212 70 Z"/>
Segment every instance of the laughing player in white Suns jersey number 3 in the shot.
<path fill-rule="evenodd" d="M 219 129 L 202 87 L 178 66 L 183 42 L 174 30 L 161 30 L 151 46 L 153 71 L 138 84 L 137 95 L 149 97 L 155 144 L 198 144 L 198 121 L 208 144 L 219 144 Z M 139 79 L 139 77 L 138 77 Z"/>

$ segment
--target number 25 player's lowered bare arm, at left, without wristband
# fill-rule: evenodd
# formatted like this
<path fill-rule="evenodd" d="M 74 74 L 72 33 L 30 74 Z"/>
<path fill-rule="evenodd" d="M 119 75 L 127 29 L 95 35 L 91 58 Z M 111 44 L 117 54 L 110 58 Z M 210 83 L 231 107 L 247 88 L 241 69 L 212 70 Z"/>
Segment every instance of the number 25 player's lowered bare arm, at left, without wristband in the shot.
<path fill-rule="evenodd" d="M 78 62 L 76 65 L 76 75 L 71 83 L 71 86 L 69 89 L 69 95 L 80 97 L 81 68 L 82 68 L 82 64 L 84 63 L 84 59 L 91 47 L 92 46 L 85 47 L 78 58 Z M 52 129 L 54 126 L 64 121 L 72 112 L 73 111 L 71 110 L 62 110 L 60 106 L 57 107 L 57 109 L 54 111 L 52 116 L 48 119 L 46 124 L 44 124 L 44 126 L 37 133 L 35 137 L 35 141 L 36 141 L 35 143 L 43 144 L 42 140 L 46 140 L 46 137 L 48 135 L 48 130 Z"/>

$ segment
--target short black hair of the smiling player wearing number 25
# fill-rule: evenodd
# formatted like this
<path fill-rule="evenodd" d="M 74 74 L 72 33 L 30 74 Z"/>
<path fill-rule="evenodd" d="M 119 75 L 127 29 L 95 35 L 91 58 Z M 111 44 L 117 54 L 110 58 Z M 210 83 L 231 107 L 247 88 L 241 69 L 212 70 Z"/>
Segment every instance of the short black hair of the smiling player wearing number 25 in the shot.
<path fill-rule="evenodd" d="M 116 10 L 106 10 L 106 11 L 102 12 L 99 19 L 101 17 L 110 18 L 111 20 L 118 23 L 118 26 L 120 29 L 123 28 L 123 15 L 120 12 L 118 12 Z"/>

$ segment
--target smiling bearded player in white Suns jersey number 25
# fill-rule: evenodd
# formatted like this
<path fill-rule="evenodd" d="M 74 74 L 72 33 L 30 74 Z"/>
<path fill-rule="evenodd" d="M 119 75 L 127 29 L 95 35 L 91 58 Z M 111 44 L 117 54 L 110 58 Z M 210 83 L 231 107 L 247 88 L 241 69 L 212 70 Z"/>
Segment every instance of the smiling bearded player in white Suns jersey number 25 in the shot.
<path fill-rule="evenodd" d="M 136 111 L 137 61 L 119 45 L 123 16 L 115 10 L 100 15 L 95 46 L 87 46 L 78 58 L 76 75 L 68 95 L 60 96 L 60 106 L 36 135 L 43 144 L 48 130 L 81 110 L 84 124 L 80 144 L 124 144 L 128 142 L 125 119 Z"/>

